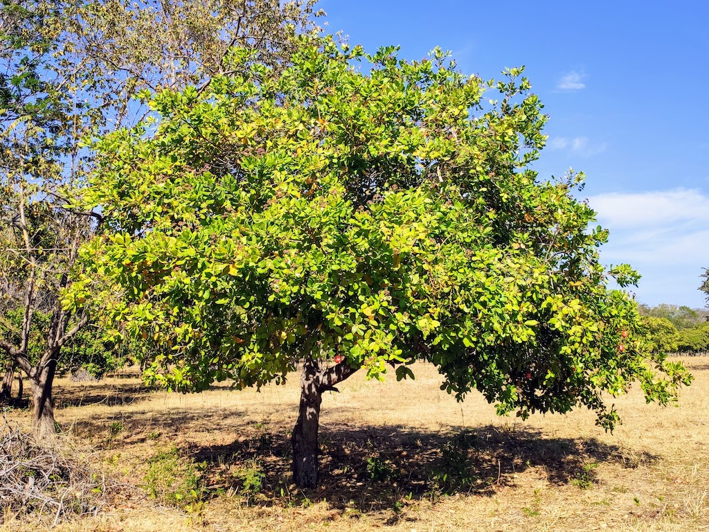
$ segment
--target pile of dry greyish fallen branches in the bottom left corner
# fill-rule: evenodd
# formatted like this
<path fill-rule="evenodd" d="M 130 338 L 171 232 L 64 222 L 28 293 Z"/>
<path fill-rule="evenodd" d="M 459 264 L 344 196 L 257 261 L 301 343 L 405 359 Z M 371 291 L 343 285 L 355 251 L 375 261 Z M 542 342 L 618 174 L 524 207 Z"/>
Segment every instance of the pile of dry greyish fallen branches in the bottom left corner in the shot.
<path fill-rule="evenodd" d="M 4 522 L 33 516 L 57 524 L 96 514 L 105 504 L 104 475 L 57 439 L 38 440 L 6 419 L 0 428 L 0 508 Z"/>

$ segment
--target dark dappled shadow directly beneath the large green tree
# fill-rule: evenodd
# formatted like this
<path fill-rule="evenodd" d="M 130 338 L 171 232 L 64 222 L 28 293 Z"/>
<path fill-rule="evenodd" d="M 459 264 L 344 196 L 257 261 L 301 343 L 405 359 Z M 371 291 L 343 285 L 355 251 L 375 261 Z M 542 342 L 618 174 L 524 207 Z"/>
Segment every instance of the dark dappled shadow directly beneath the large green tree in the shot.
<path fill-rule="evenodd" d="M 245 494 L 253 487 L 247 479 L 257 475 L 261 485 L 251 497 L 255 504 L 326 500 L 340 511 L 393 509 L 391 519 L 421 499 L 461 492 L 490 497 L 500 487 L 514 487 L 515 474 L 532 467 L 550 484 L 589 487 L 597 482 L 594 469 L 601 462 L 637 467 L 657 460 L 596 438 L 548 438 L 533 428 L 453 427 L 442 435 L 404 426 L 353 429 L 341 424 L 321 430 L 320 485 L 301 490 L 291 484 L 289 436 L 257 424 L 251 429 L 229 444 L 192 444 L 183 450 L 203 462 L 203 483 L 212 494 Z"/>

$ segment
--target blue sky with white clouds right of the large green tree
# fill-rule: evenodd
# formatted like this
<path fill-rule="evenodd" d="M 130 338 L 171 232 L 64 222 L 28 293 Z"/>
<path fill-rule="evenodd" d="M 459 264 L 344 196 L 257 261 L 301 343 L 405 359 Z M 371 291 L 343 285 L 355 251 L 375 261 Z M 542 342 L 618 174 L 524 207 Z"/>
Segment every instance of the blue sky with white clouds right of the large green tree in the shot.
<path fill-rule="evenodd" d="M 540 178 L 610 231 L 605 264 L 642 275 L 637 301 L 704 307 L 709 267 L 709 2 L 321 0 L 327 30 L 420 60 L 439 46 L 484 79 L 525 65 L 549 114 Z M 323 20 L 320 20 L 322 23 Z"/>

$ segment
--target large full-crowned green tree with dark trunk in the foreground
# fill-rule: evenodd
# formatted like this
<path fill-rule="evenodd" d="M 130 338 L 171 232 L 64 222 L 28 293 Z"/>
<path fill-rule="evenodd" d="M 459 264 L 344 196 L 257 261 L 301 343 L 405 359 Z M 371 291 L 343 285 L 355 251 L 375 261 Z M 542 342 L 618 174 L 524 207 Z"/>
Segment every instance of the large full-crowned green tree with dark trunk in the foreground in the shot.
<path fill-rule="evenodd" d="M 484 82 L 440 51 L 332 40 L 282 72 L 228 61 L 239 74 L 155 94 L 159 118 L 96 145 L 86 201 L 105 223 L 65 304 L 99 298 L 108 323 L 168 348 L 148 378 L 171 389 L 301 367 L 299 486 L 317 482 L 323 392 L 360 369 L 413 378 L 428 360 L 458 399 L 523 417 L 583 405 L 605 428 L 603 392 L 637 379 L 666 404 L 688 384 L 608 289 L 637 275 L 599 263 L 581 176 L 530 170 L 546 117 L 521 69 Z"/>

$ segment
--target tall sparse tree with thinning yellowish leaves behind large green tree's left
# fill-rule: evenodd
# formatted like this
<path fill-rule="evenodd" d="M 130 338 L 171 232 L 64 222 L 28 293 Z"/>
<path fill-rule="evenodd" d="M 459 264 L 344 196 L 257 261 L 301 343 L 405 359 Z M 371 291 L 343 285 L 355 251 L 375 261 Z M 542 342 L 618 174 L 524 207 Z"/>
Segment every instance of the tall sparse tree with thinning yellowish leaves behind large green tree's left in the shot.
<path fill-rule="evenodd" d="M 85 305 L 67 311 L 60 304 L 79 245 L 101 219 L 69 208 L 93 164 L 82 139 L 142 116 L 140 102 L 131 99 L 140 88 L 208 87 L 234 43 L 279 67 L 288 61 L 289 38 L 314 28 L 310 0 L 147 4 L 0 5 L 0 279 L 2 307 L 21 316 L 19 323 L 0 319 L 4 392 L 21 367 L 41 433 L 55 430 L 52 382 L 60 351 L 89 323 Z"/>

